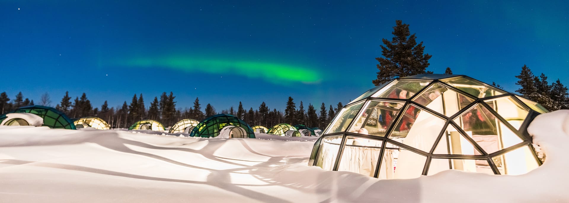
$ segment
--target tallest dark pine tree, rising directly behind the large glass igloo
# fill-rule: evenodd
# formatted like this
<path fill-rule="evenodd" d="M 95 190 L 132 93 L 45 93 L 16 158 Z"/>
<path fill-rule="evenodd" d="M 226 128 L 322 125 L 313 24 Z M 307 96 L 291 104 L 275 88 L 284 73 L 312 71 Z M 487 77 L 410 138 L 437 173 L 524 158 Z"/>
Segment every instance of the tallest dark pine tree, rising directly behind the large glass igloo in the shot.
<path fill-rule="evenodd" d="M 396 20 L 397 26 L 393 27 L 394 35 L 391 42 L 382 39 L 382 55 L 376 58 L 380 64 L 377 65 L 377 79 L 373 84 L 378 86 L 384 84 L 395 77 L 413 76 L 415 74 L 429 73 L 425 69 L 428 67 L 428 60 L 431 55 L 423 55 L 423 42 L 417 44 L 415 34 L 410 35 L 409 24 L 402 24 L 401 20 Z M 431 72 L 432 73 L 432 72 Z"/>

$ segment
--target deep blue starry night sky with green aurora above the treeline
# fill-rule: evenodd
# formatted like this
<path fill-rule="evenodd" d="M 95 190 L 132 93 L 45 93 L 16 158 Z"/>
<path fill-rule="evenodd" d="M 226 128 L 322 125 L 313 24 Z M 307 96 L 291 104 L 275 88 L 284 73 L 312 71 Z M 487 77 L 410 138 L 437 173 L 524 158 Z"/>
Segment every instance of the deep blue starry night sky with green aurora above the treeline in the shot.
<path fill-rule="evenodd" d="M 217 111 L 239 101 L 317 108 L 373 88 L 381 39 L 410 24 L 428 71 L 518 89 L 523 64 L 569 85 L 567 1 L 3 1 L 0 92 L 100 107 L 174 92 Z"/>

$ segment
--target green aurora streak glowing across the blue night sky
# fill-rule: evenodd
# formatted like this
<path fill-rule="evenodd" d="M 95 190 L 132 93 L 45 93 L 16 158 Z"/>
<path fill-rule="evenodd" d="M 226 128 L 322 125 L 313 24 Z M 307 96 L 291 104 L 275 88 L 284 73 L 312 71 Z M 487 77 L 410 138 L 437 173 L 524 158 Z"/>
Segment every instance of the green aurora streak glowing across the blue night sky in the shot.
<path fill-rule="evenodd" d="M 127 60 L 127 67 L 132 68 L 168 68 L 186 72 L 232 73 L 249 78 L 262 78 L 274 84 L 282 82 L 302 82 L 318 84 L 323 74 L 316 69 L 278 63 L 255 61 L 221 61 L 192 59 L 187 57 L 138 58 Z"/>

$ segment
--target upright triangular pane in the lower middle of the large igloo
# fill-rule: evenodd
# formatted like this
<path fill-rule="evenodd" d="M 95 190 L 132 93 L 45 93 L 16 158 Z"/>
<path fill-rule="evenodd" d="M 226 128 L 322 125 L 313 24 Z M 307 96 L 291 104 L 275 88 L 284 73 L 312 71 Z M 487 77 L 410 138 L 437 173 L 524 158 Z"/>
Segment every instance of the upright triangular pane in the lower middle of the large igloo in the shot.
<path fill-rule="evenodd" d="M 481 153 L 455 127 L 448 125 L 433 154 L 480 155 Z"/>

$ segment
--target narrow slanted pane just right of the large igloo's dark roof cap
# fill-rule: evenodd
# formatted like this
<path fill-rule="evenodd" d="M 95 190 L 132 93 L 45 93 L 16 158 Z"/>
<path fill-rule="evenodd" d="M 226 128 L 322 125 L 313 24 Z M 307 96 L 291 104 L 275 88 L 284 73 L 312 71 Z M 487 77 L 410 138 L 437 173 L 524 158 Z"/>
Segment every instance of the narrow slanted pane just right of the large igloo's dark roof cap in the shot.
<path fill-rule="evenodd" d="M 464 76 L 457 78 L 448 78 L 441 81 L 478 98 L 491 97 L 506 93 L 504 90 L 476 80 L 471 80 Z"/>

